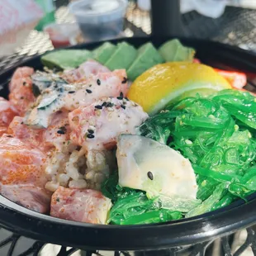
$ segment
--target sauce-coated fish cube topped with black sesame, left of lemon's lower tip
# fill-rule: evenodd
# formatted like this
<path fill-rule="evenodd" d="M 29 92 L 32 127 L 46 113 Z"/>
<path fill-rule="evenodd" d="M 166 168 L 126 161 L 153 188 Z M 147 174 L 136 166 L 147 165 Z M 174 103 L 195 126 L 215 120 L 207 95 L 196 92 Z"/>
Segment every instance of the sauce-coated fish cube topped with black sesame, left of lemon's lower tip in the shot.
<path fill-rule="evenodd" d="M 69 113 L 70 139 L 88 151 L 111 149 L 116 145 L 118 135 L 135 134 L 136 126 L 147 118 L 142 107 L 122 95 L 106 97 Z"/>

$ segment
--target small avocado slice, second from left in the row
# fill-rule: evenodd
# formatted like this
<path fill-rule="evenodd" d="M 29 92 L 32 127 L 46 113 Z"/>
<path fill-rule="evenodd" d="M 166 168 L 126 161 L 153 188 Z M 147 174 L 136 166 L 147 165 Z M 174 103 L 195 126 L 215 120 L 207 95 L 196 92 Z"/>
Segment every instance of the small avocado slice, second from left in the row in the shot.
<path fill-rule="evenodd" d="M 101 64 L 105 64 L 107 60 L 111 58 L 111 55 L 113 55 L 115 50 L 116 45 L 106 42 L 92 51 L 92 55 L 94 56 L 93 59 L 97 60 Z"/>

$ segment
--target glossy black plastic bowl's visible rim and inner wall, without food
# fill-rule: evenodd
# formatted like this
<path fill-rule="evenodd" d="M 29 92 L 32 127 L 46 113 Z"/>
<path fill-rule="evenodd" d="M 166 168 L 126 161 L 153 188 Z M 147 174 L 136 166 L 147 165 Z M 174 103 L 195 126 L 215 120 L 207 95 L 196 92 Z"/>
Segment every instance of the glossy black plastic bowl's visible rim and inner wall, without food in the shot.
<path fill-rule="evenodd" d="M 170 38 L 129 38 L 112 40 L 113 43 L 126 40 L 136 47 L 151 41 L 159 46 Z M 183 44 L 197 50 L 197 58 L 216 68 L 242 70 L 250 81 L 256 74 L 256 55 L 229 45 L 206 41 L 182 39 Z M 75 49 L 91 50 L 101 43 L 76 45 Z M 40 56 L 19 64 L 41 69 Z M 0 75 L 5 88 L 0 95 L 7 97 L 7 81 L 17 66 Z M 254 85 L 251 83 L 251 86 Z M 73 246 L 79 249 L 140 250 L 161 249 L 186 244 L 195 244 L 220 235 L 227 235 L 256 223 L 256 193 L 247 201 L 235 201 L 217 211 L 189 219 L 170 221 L 154 225 L 92 225 L 69 220 L 60 220 L 28 210 L 0 196 L 0 225 L 20 235 L 41 241 Z"/>

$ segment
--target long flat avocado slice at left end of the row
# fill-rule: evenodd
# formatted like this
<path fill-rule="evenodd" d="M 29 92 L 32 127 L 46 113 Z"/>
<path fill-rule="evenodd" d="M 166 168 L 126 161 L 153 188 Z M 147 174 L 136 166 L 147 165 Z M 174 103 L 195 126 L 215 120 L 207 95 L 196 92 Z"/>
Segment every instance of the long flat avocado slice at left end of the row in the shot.
<path fill-rule="evenodd" d="M 41 57 L 41 63 L 49 69 L 75 69 L 92 58 L 89 50 L 56 50 Z"/>

